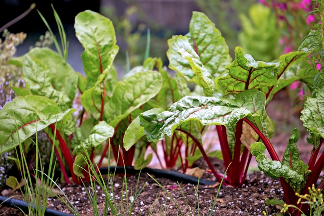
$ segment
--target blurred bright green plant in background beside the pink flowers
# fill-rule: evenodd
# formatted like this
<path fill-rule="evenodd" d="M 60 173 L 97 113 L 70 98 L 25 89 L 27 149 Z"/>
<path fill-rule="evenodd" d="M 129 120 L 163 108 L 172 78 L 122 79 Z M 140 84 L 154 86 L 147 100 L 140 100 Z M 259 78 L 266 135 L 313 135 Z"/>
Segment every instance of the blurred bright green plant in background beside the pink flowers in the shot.
<path fill-rule="evenodd" d="M 280 32 L 271 9 L 262 4 L 253 4 L 249 17 L 242 13 L 240 19 L 242 31 L 238 38 L 244 50 L 256 56 L 256 60 L 272 61 L 278 58 L 282 52 L 278 46 Z"/>

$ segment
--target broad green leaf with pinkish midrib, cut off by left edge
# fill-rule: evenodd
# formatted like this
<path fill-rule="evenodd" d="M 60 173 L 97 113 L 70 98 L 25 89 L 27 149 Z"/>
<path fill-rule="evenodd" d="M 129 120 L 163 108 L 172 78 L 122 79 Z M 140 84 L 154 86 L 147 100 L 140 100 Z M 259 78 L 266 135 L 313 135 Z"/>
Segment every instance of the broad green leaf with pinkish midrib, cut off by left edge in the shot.
<path fill-rule="evenodd" d="M 52 100 L 35 95 L 17 97 L 6 103 L 0 110 L 0 154 L 18 146 L 18 136 L 23 142 L 75 111 L 68 109 L 61 112 Z"/>

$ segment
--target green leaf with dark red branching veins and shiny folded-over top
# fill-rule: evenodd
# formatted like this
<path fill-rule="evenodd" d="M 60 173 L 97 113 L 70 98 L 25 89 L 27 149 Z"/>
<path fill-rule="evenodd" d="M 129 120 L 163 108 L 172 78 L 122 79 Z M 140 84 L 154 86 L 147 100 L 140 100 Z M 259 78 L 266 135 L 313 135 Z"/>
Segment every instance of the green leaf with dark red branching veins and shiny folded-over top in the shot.
<path fill-rule="evenodd" d="M 235 60 L 226 69 L 228 74 L 215 79 L 217 89 L 224 95 L 236 95 L 248 89 L 259 89 L 264 92 L 264 88 L 271 87 L 277 83 L 275 67 L 280 62 L 255 61 L 249 54 L 244 54 L 241 47 L 235 48 Z M 265 92 L 267 93 L 267 92 Z"/>

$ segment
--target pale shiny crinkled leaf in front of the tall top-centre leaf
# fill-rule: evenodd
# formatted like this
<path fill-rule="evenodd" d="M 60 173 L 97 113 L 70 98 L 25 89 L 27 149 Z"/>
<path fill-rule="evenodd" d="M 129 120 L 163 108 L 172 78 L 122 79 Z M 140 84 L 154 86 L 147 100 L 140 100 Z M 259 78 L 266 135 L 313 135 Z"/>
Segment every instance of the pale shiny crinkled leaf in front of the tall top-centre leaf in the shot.
<path fill-rule="evenodd" d="M 187 80 L 193 81 L 204 88 L 206 96 L 211 96 L 215 89 L 213 77 L 199 59 L 198 54 L 191 47 L 185 36 L 173 36 L 171 46 L 167 51 L 170 60 L 169 67 L 183 75 Z M 180 55 L 180 56 L 179 56 Z M 176 58 L 176 63 L 174 59 Z M 172 63 L 174 62 L 174 64 Z"/>

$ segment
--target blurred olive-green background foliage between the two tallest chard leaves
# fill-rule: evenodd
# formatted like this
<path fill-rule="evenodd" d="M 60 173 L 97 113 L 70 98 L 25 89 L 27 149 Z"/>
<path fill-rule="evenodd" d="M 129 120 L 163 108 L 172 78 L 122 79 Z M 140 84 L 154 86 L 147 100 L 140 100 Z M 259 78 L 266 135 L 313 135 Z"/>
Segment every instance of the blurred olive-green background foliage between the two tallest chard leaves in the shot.
<path fill-rule="evenodd" d="M 131 4 L 132 5 L 132 4 Z M 101 14 L 110 18 L 114 23 L 118 44 L 121 48 L 116 56 L 115 64 L 125 65 L 125 56 L 128 56 L 130 67 L 139 66 L 147 57 L 157 56 L 166 62 L 167 58 L 165 52 L 167 50 L 167 38 L 171 37 L 171 30 L 164 30 L 163 37 L 156 36 L 154 32 L 159 32 L 160 27 L 155 22 L 148 22 L 145 17 L 141 15 L 143 12 L 141 8 L 134 4 L 126 9 L 123 16 L 116 14 L 116 9 L 112 6 L 102 6 L 100 8 Z M 134 23 L 133 20 L 139 20 L 140 23 Z M 148 23 L 148 24 L 144 24 Z M 149 33 L 148 26 L 153 28 L 153 33 Z M 147 53 L 147 38 L 150 34 L 150 55 L 145 56 Z M 124 71 L 128 72 L 127 65 L 124 66 Z"/>

